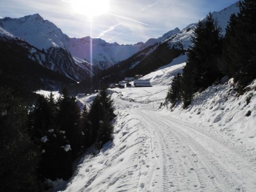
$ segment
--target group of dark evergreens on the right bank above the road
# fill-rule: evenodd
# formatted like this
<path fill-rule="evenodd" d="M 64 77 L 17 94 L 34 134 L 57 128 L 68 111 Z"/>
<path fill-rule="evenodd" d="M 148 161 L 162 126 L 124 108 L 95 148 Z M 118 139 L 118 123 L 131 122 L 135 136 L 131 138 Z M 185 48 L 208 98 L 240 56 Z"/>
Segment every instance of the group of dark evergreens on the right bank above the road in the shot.
<path fill-rule="evenodd" d="M 239 93 L 256 78 L 255 1 L 239 2 L 240 12 L 231 15 L 226 35 L 221 35 L 218 23 L 209 13 L 198 22 L 193 35 L 193 45 L 188 49 L 188 62 L 184 67 L 181 86 L 171 85 L 168 99 L 175 104 L 182 99 L 184 108 L 193 100 L 193 94 L 223 76 L 234 77 Z M 176 77 L 178 79 L 178 77 Z M 177 92 L 179 94 L 177 95 Z M 175 99 L 173 99 L 175 97 Z"/>

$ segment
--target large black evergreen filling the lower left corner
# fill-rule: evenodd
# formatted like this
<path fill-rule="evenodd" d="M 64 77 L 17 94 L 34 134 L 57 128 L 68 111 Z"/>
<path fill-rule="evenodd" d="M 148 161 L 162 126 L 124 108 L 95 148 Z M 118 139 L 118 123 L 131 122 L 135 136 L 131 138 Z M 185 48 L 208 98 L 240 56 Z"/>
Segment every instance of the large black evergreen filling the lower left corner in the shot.
<path fill-rule="evenodd" d="M 0 191 L 40 191 L 38 152 L 29 138 L 28 111 L 13 94 L 0 88 Z"/>

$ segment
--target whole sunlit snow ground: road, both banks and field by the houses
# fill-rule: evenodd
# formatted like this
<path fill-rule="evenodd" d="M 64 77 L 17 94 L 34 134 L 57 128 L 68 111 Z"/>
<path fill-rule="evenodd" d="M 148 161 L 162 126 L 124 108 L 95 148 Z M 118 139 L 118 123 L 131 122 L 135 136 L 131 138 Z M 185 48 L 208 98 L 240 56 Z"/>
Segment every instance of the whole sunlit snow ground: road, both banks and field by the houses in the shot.
<path fill-rule="evenodd" d="M 256 82 L 238 97 L 223 81 L 171 111 L 159 105 L 184 64 L 169 66 L 143 77 L 151 88 L 111 90 L 114 140 L 81 159 L 65 191 L 256 191 Z"/>

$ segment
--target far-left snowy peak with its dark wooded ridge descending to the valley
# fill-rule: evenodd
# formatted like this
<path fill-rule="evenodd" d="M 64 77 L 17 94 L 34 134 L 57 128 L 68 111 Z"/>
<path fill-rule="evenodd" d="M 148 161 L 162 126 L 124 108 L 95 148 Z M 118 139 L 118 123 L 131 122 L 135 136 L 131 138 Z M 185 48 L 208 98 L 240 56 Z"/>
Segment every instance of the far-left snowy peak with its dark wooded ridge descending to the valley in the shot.
<path fill-rule="evenodd" d="M 22 44 L 28 58 L 75 81 L 81 81 L 92 74 L 92 65 L 78 62 L 66 50 L 67 35 L 52 22 L 40 15 L 29 15 L 20 19 L 0 19 L 0 40 Z"/>

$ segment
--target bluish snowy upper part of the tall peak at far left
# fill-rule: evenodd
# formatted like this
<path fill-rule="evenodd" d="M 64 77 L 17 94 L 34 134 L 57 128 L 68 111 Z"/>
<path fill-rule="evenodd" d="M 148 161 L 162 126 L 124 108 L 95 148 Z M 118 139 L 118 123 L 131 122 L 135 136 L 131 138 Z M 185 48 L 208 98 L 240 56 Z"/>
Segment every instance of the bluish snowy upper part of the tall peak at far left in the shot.
<path fill-rule="evenodd" d="M 4 17 L 4 19 L 0 19 L 0 27 L 40 50 L 47 50 L 50 47 L 65 49 L 67 46 L 67 35 L 64 35 L 61 29 L 49 20 L 44 20 L 39 14 L 19 19 Z"/>

